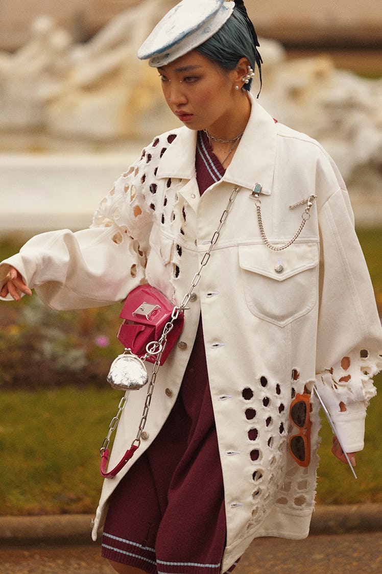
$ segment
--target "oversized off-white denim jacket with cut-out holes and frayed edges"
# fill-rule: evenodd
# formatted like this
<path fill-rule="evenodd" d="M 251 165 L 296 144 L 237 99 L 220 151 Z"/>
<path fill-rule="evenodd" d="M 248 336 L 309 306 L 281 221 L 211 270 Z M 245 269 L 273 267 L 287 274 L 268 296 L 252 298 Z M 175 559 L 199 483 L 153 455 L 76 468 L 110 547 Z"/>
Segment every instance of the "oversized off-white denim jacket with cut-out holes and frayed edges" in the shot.
<path fill-rule="evenodd" d="M 232 189 L 240 187 L 186 311 L 183 344 L 159 370 L 147 438 L 124 470 L 105 480 L 93 530 L 96 538 L 111 492 L 166 420 L 202 313 L 225 487 L 222 572 L 254 537 L 308 534 L 318 406 L 312 398 L 311 463 L 302 468 L 288 452 L 288 438 L 296 432 L 289 419 L 292 394 L 315 382 L 346 450 L 358 451 L 365 407 L 375 394 L 371 377 L 382 367 L 380 320 L 344 181 L 316 141 L 275 123 L 252 96 L 251 102 L 233 161 L 202 197 L 196 133 L 186 127 L 170 131 L 119 177 L 90 229 L 38 235 L 0 267 L 0 285 L 14 265 L 56 309 L 123 300 L 142 281 L 179 304 Z M 250 197 L 256 183 L 272 245 L 295 236 L 307 199 L 317 196 L 310 219 L 284 250 L 264 244 Z M 145 395 L 145 389 L 130 393 L 110 467 L 136 436 Z"/>

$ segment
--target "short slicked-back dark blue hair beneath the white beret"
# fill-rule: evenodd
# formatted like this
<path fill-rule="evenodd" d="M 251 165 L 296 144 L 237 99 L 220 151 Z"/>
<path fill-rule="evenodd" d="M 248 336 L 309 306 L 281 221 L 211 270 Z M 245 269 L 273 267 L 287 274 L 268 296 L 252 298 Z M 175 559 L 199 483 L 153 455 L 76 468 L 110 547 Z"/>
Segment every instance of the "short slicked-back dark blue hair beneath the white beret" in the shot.
<path fill-rule="evenodd" d="M 261 64 L 263 60 L 257 50 L 259 45 L 257 34 L 248 18 L 244 3 L 237 2 L 233 13 L 222 28 L 215 32 L 209 40 L 200 44 L 196 51 L 226 70 L 235 69 L 238 61 L 242 57 L 246 57 L 252 68 L 257 65 L 261 90 Z M 252 80 L 248 84 L 244 84 L 243 87 L 249 91 L 251 84 Z"/>

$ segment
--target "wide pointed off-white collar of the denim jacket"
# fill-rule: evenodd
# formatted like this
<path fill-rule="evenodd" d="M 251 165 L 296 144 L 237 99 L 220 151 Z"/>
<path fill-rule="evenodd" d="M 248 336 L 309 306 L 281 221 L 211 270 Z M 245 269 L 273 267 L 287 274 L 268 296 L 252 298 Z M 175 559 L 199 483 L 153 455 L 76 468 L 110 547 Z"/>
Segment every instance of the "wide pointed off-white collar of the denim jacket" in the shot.
<path fill-rule="evenodd" d="M 276 161 L 277 128 L 275 121 L 252 94 L 249 94 L 251 113 L 233 160 L 222 181 L 253 189 L 263 186 L 262 193 L 271 193 Z M 197 133 L 188 127 L 176 130 L 177 137 L 161 158 L 157 177 L 195 177 L 195 148 Z"/>

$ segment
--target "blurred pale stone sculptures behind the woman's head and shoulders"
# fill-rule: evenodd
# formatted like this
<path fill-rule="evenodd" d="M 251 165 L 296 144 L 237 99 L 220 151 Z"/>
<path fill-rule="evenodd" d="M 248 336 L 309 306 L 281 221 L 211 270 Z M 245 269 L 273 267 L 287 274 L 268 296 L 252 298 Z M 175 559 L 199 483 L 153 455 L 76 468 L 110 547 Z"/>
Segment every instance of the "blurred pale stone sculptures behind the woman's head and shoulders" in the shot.
<path fill-rule="evenodd" d="M 68 146 L 74 140 L 102 145 L 145 142 L 177 125 L 155 69 L 136 58 L 142 39 L 171 5 L 144 0 L 83 45 L 52 18 L 38 18 L 26 45 L 13 55 L 0 53 L 0 134 L 38 130 Z M 382 80 L 335 69 L 327 57 L 288 60 L 271 40 L 261 40 L 261 55 L 260 103 L 322 142 L 350 185 L 363 181 L 366 170 L 366 187 L 380 185 Z"/>

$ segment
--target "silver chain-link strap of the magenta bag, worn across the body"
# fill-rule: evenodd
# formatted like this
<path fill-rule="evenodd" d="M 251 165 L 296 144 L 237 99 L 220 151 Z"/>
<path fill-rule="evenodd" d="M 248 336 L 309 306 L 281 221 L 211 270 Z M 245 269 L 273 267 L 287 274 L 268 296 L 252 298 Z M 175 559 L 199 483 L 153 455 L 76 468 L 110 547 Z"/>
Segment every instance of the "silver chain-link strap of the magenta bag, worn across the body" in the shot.
<path fill-rule="evenodd" d="M 207 263 L 209 262 L 209 259 L 211 257 L 211 251 L 213 250 L 214 245 L 217 243 L 217 241 L 219 239 L 221 229 L 222 229 L 223 224 L 225 223 L 225 221 L 228 217 L 228 214 L 230 212 L 230 209 L 233 205 L 233 202 L 237 196 L 239 189 L 240 189 L 240 187 L 235 187 L 235 188 L 233 188 L 233 190 L 231 192 L 227 206 L 226 206 L 225 210 L 223 211 L 222 216 L 220 218 L 219 226 L 211 238 L 209 249 L 203 255 L 203 259 L 200 263 L 200 269 L 197 273 L 195 273 L 194 277 L 192 278 L 190 289 L 188 289 L 188 292 L 183 297 L 180 305 L 175 306 L 172 309 L 171 319 L 168 321 L 168 323 L 166 323 L 164 325 L 164 329 L 163 329 L 163 332 L 162 332 L 159 340 L 152 341 L 151 343 L 148 343 L 146 346 L 146 354 L 141 357 L 142 360 L 146 360 L 149 355 L 152 355 L 152 356 L 155 356 L 156 359 L 155 359 L 155 363 L 153 364 L 153 368 L 152 368 L 151 378 L 150 378 L 150 382 L 149 382 L 149 386 L 148 386 L 148 390 L 147 390 L 147 394 L 146 394 L 146 400 L 145 400 L 145 405 L 144 405 L 143 412 L 142 412 L 142 417 L 140 420 L 140 424 L 138 426 L 137 436 L 132 442 L 132 447 L 133 447 L 133 445 L 135 445 L 136 447 L 139 447 L 141 444 L 142 433 L 144 432 L 144 428 L 146 425 L 147 416 L 148 416 L 148 412 L 149 412 L 149 408 L 150 408 L 150 404 L 151 404 L 151 399 L 152 399 L 152 395 L 153 395 L 153 391 L 154 391 L 156 375 L 159 371 L 160 360 L 161 360 L 161 357 L 163 355 L 163 352 L 164 352 L 164 349 L 165 349 L 165 346 L 167 343 L 168 333 L 170 331 L 172 331 L 173 325 L 174 325 L 176 319 L 178 319 L 179 313 L 186 311 L 186 309 L 187 309 L 187 305 L 188 305 L 188 302 L 190 301 L 192 291 L 195 289 L 196 285 L 198 285 L 198 283 L 200 281 L 200 276 L 202 274 L 203 267 L 205 267 L 207 265 Z M 101 453 L 101 456 L 102 456 L 103 452 L 106 451 L 107 447 L 109 447 L 110 437 L 111 437 L 112 433 L 114 432 L 114 430 L 118 426 L 119 418 L 121 417 L 122 411 L 124 410 L 124 407 L 125 407 L 126 402 L 128 400 L 129 392 L 130 391 L 126 391 L 124 397 L 122 397 L 121 402 L 119 402 L 119 405 L 118 405 L 118 413 L 113 418 L 113 420 L 111 420 L 111 422 L 110 422 L 109 432 L 107 433 L 107 436 L 106 436 L 105 440 L 103 441 L 102 447 L 99 451 Z"/>

